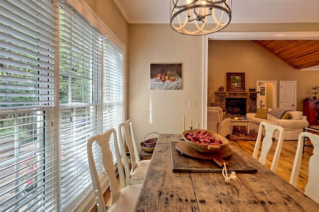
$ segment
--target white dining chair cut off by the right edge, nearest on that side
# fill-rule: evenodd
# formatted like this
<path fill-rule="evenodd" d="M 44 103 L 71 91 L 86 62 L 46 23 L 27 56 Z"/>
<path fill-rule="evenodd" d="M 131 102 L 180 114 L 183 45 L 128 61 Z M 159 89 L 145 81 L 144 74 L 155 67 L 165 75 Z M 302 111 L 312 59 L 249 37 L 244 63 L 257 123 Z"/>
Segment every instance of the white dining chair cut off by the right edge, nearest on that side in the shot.
<path fill-rule="evenodd" d="M 305 194 L 319 203 L 319 135 L 311 132 L 302 132 L 299 134 L 296 156 L 289 182 L 297 187 L 305 138 L 309 138 L 314 145 L 313 155 L 309 159 L 309 176 L 305 187 Z"/>

